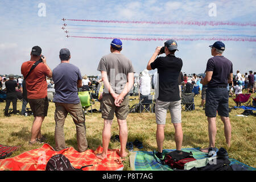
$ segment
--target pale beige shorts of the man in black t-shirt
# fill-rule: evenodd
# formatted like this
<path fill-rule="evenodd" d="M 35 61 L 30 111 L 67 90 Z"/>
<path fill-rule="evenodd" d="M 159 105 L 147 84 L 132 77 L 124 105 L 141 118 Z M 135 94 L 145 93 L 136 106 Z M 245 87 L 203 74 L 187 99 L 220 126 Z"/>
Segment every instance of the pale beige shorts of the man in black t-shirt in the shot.
<path fill-rule="evenodd" d="M 172 123 L 181 123 L 181 100 L 171 101 L 171 102 L 156 100 L 156 104 L 155 104 L 156 124 L 158 125 L 166 124 L 166 114 L 168 109 L 170 110 Z"/>

